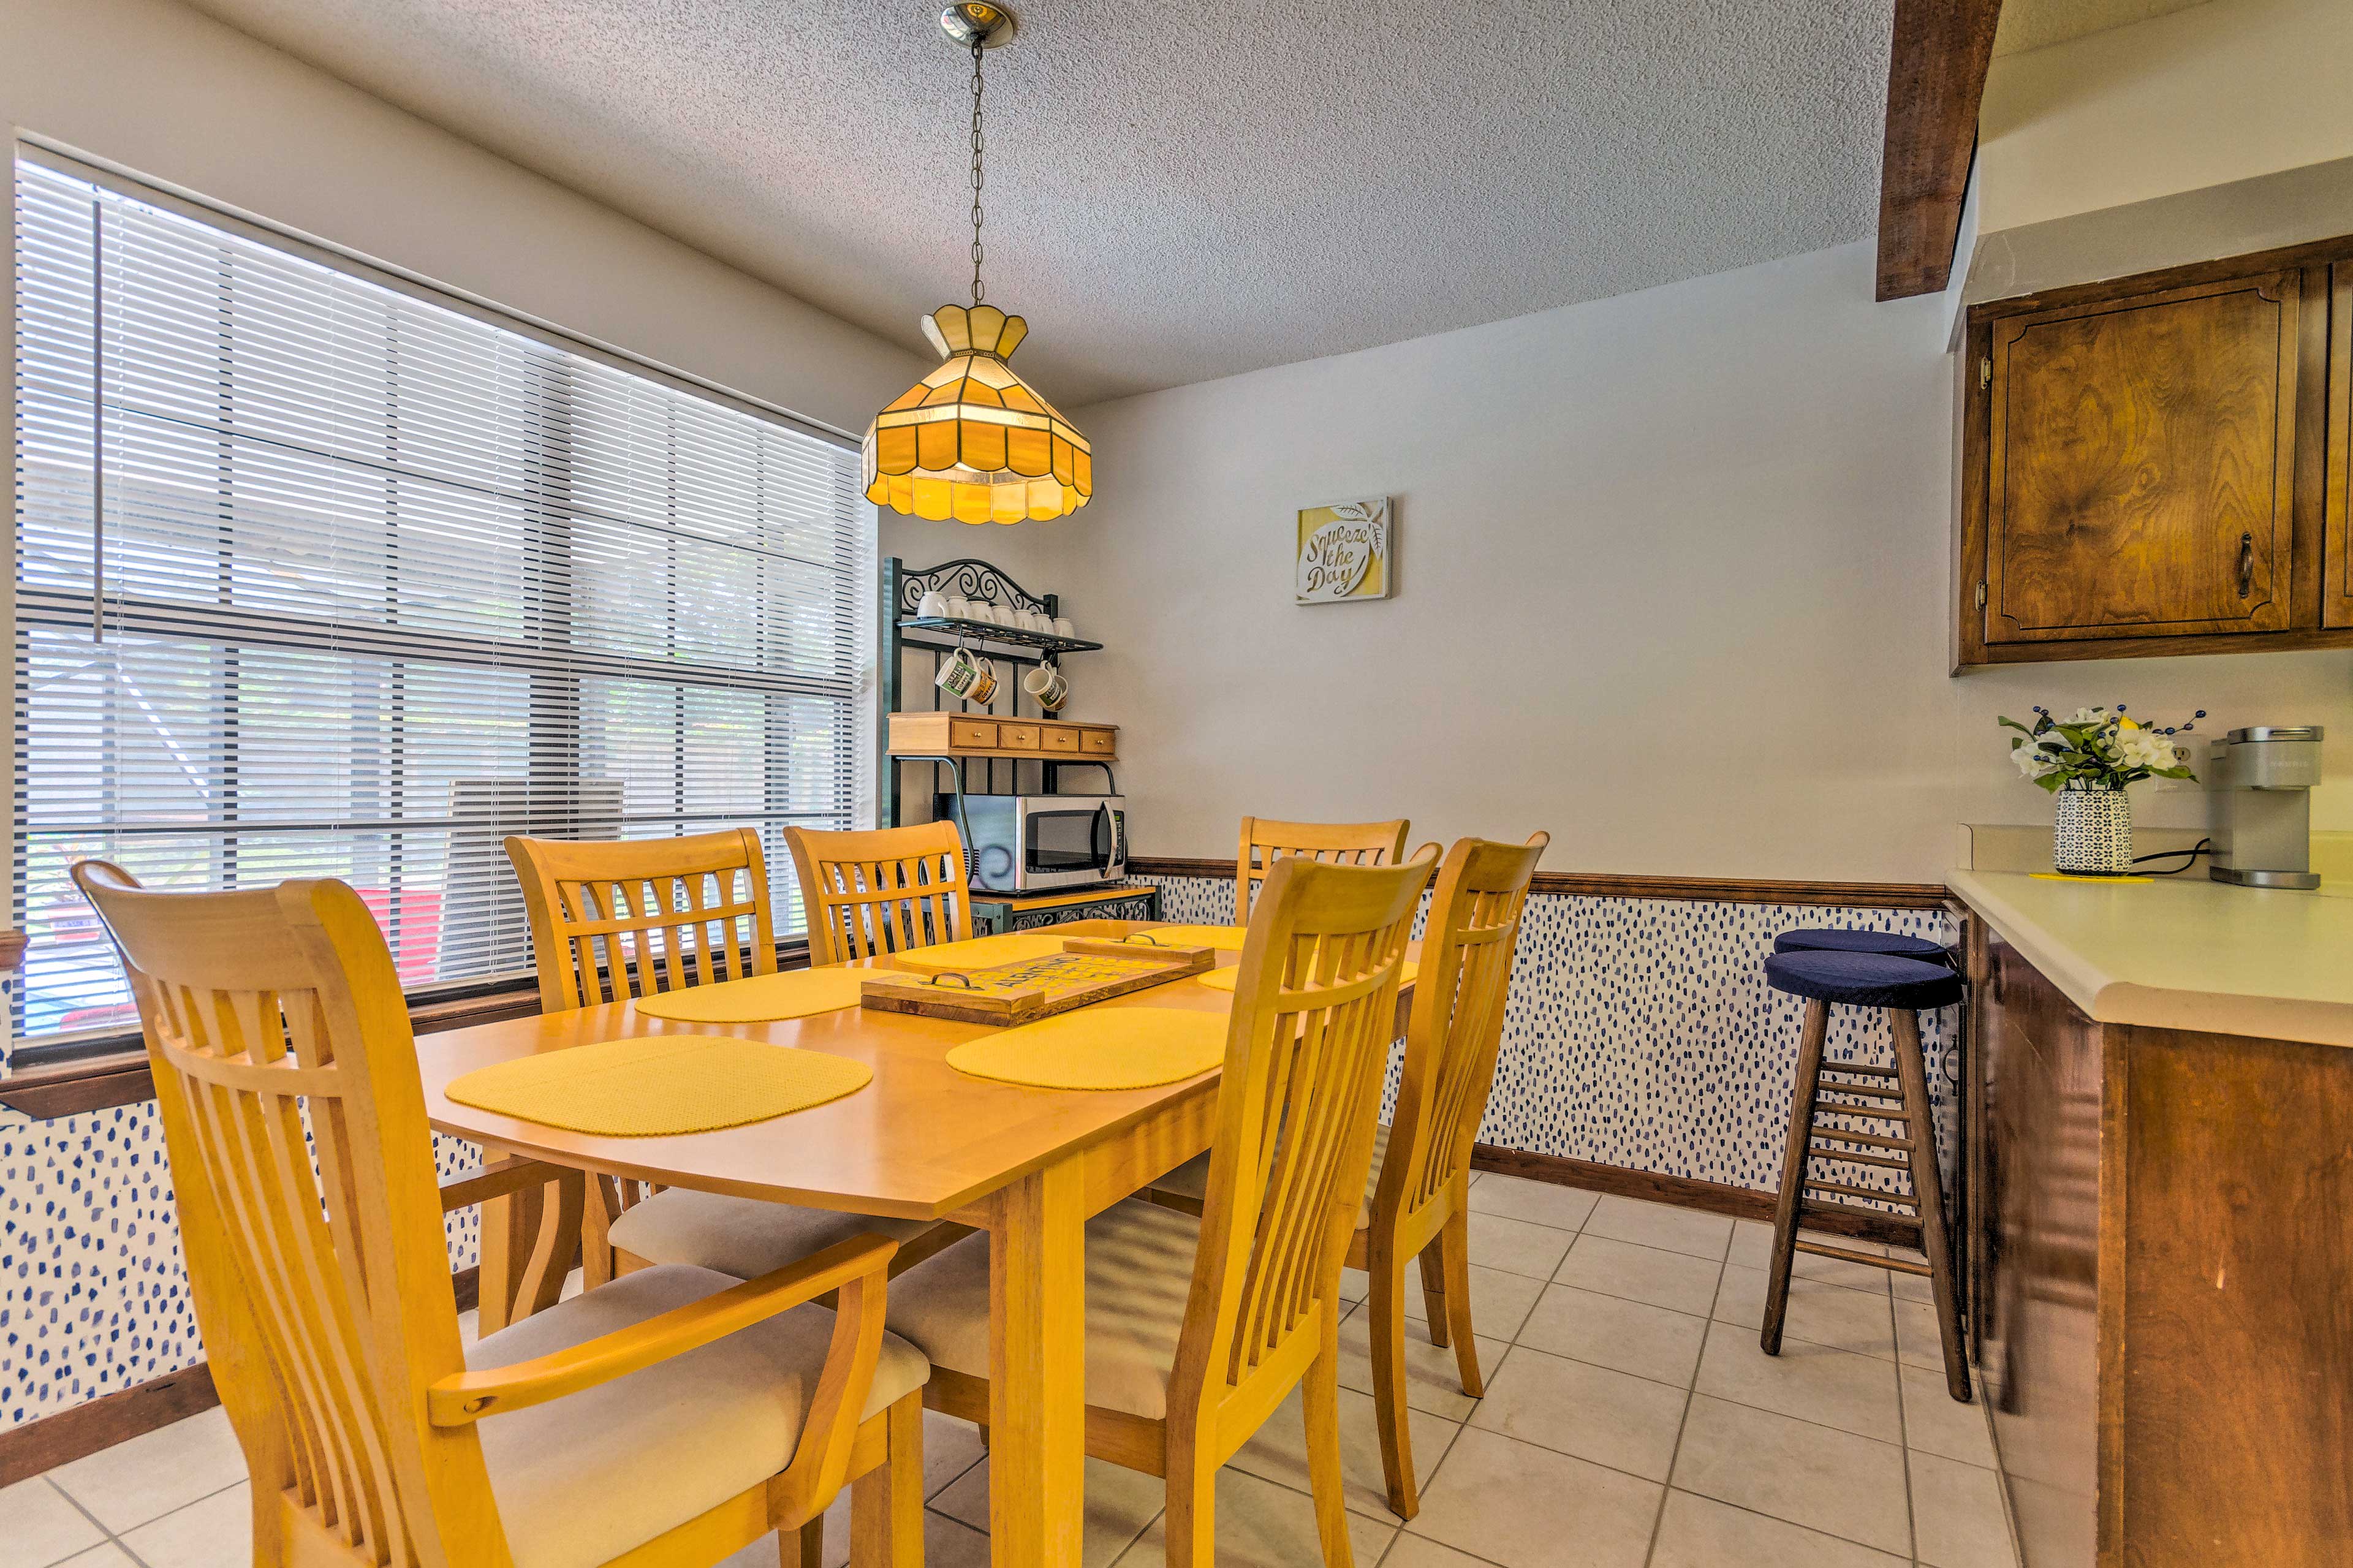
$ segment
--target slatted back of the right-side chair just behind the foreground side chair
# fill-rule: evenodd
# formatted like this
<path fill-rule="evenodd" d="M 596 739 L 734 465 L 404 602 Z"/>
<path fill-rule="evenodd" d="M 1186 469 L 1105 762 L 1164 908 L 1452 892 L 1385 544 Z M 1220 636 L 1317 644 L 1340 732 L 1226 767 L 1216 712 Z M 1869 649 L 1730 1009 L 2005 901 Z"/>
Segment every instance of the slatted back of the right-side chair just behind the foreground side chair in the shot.
<path fill-rule="evenodd" d="M 1534 833 L 1525 845 L 1457 838 L 1438 866 L 1405 1034 L 1398 1118 L 1374 1194 L 1377 1222 L 1424 1208 L 1471 1168 L 1504 1043 L 1520 916 L 1551 841 L 1551 833 Z"/>

